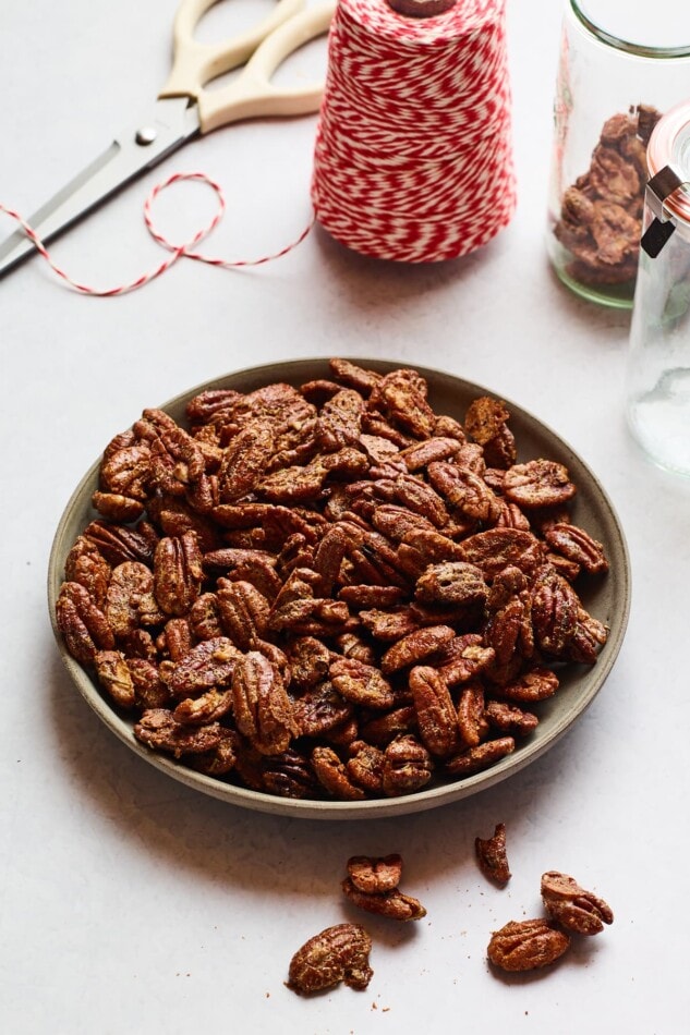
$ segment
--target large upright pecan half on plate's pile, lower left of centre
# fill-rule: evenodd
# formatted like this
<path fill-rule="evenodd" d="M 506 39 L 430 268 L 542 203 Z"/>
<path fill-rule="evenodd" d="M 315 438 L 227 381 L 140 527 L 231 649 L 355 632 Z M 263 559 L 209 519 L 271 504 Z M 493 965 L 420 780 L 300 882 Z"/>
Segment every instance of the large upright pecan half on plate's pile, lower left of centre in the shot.
<path fill-rule="evenodd" d="M 237 728 L 262 755 L 278 755 L 295 733 L 292 705 L 275 665 L 251 650 L 232 673 L 232 702 Z"/>

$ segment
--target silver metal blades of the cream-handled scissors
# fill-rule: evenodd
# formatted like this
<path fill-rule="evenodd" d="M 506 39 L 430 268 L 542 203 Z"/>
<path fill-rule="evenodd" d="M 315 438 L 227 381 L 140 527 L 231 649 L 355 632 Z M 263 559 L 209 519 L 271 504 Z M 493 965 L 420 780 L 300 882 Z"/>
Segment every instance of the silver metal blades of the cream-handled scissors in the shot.
<path fill-rule="evenodd" d="M 117 136 L 95 161 L 27 219 L 29 227 L 47 244 L 198 132 L 196 105 L 189 98 L 159 100 L 153 118 Z M 34 244 L 23 230 L 17 230 L 0 245 L 0 277 L 34 252 Z"/>

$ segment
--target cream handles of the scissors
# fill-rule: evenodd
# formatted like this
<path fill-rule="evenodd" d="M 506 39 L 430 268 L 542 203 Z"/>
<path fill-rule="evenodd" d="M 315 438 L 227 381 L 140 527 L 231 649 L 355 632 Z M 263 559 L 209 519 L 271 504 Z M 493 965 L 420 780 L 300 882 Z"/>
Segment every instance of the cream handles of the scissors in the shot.
<path fill-rule="evenodd" d="M 182 0 L 175 15 L 174 62 L 159 97 L 193 97 L 199 127 L 208 133 L 228 122 L 256 115 L 292 115 L 315 111 L 323 84 L 277 87 L 270 82 L 278 65 L 310 39 L 328 31 L 335 0 L 303 9 L 304 0 L 278 0 L 273 13 L 241 36 L 221 44 L 194 38 L 199 19 L 218 0 Z M 298 13 L 299 12 L 299 13 Z M 228 86 L 205 86 L 223 72 L 246 65 Z"/>

